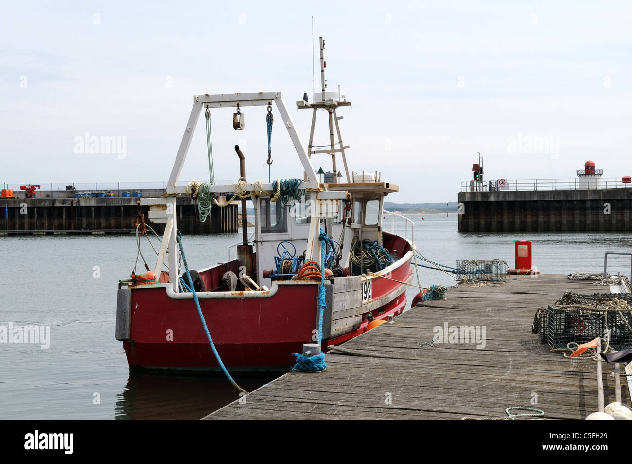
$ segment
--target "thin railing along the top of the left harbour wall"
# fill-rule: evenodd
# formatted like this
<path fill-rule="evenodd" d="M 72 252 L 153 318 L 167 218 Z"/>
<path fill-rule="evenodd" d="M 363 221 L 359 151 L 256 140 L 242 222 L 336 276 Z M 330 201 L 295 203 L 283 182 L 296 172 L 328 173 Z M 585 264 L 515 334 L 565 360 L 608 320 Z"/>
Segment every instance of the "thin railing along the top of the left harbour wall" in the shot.
<path fill-rule="evenodd" d="M 233 180 L 217 180 L 216 184 L 233 184 Z M 130 196 L 135 192 L 140 193 L 143 196 L 143 191 L 152 194 L 156 191 L 162 191 L 164 193 L 167 188 L 167 182 L 159 180 L 154 182 L 80 182 L 73 183 L 68 182 L 66 184 L 60 182 L 49 182 L 48 184 L 41 184 L 39 182 L 23 182 L 22 184 L 4 184 L 3 189 L 13 190 L 13 194 L 20 194 L 23 191 L 20 190 L 21 185 L 35 184 L 40 185 L 40 189 L 35 192 L 35 197 L 40 196 L 54 196 L 55 193 L 66 192 L 66 196 L 97 196 L 98 194 L 104 194 L 104 196 Z M 178 185 L 186 185 L 188 180 L 179 181 Z M 121 195 L 123 194 L 123 195 Z"/>

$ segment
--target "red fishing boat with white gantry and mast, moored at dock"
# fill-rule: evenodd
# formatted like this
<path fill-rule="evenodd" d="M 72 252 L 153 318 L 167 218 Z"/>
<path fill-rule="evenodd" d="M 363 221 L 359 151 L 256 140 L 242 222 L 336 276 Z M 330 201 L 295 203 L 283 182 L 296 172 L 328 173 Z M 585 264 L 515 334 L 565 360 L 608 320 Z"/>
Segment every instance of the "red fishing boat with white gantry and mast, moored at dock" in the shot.
<path fill-rule="evenodd" d="M 397 192 L 398 186 L 382 182 L 379 173 L 349 172 L 348 146 L 341 141 L 337 110 L 351 103 L 340 91 L 325 91 L 323 49 L 321 38 L 322 91 L 312 103 L 307 95 L 296 102 L 298 110 L 313 111 L 307 150 L 281 92 L 194 97 L 166 193 L 162 198 L 140 200 L 150 208 L 149 219 L 165 225 L 153 271 L 133 274 L 119 284 L 116 339 L 123 342 L 131 368 L 218 370 L 220 363 L 209 346 L 212 337 L 217 354 L 231 372 L 289 370 L 293 353 L 300 353 L 304 343 L 320 340 L 326 351 L 328 346 L 362 334 L 375 325 L 372 321 L 388 321 L 406 308 L 405 289 L 413 279 L 413 224 L 397 215 L 398 220 L 408 221 L 406 233 L 395 234 L 394 227 L 392 232 L 383 230 L 382 220 L 394 215 L 383 211 L 384 197 Z M 245 156 L 236 146 L 239 182 L 215 185 L 210 110 L 237 108 L 233 127 L 243 129 L 243 108 L 250 111 L 267 106 L 270 141 L 273 105 L 302 165 L 300 179 L 248 182 Z M 179 174 L 203 110 L 207 114 L 210 182 L 181 185 Z M 331 137 L 327 148 L 314 150 L 319 110 L 329 116 Z M 315 171 L 312 158 L 317 154 L 331 156 L 330 173 Z M 338 156 L 344 174 L 337 171 Z M 248 237 L 246 214 L 242 215 L 237 258 L 191 270 L 191 280 L 179 260 L 184 258 L 186 263 L 186 237 L 180 240 L 176 214 L 176 198 L 181 195 L 197 198 L 203 216 L 213 204 L 234 201 L 241 201 L 243 212 L 246 201 L 252 201 L 255 210 L 253 237 Z M 388 221 L 391 225 L 394 218 Z M 139 224 L 137 233 L 143 229 L 144 223 Z M 319 299 L 321 286 L 324 299 Z"/>

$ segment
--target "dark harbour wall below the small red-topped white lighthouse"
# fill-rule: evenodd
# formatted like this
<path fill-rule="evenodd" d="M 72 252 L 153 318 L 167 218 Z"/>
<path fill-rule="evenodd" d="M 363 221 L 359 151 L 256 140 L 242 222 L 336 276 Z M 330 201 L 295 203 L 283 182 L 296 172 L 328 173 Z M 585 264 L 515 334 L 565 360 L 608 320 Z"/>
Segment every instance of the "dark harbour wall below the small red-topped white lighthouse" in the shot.
<path fill-rule="evenodd" d="M 459 232 L 630 232 L 632 189 L 459 192 Z"/>

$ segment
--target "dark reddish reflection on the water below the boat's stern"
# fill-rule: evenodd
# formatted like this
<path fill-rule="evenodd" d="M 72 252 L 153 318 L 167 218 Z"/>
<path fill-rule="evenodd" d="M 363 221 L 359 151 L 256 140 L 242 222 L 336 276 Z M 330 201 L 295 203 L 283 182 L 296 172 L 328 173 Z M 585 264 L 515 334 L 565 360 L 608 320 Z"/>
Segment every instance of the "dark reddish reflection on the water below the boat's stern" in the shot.
<path fill-rule="evenodd" d="M 253 391 L 276 377 L 236 377 L 246 391 Z M 130 371 L 125 389 L 116 395 L 117 420 L 198 420 L 239 398 L 224 377 L 214 375 L 164 375 Z"/>

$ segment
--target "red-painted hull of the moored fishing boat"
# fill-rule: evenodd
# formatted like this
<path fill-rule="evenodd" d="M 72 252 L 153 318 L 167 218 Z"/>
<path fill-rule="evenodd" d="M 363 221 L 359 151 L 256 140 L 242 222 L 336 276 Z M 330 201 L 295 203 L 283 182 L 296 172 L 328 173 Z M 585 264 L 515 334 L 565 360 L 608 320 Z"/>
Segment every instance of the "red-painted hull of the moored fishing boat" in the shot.
<path fill-rule="evenodd" d="M 356 303 L 352 317 L 329 322 L 330 327 L 343 322 L 339 325 L 345 329 L 325 334 L 324 350 L 365 332 L 369 312 L 374 318 L 388 320 L 406 309 L 405 285 L 400 282 L 411 280 L 410 260 L 409 253 L 381 275 L 354 278 L 360 287 L 370 282 L 370 298 Z M 214 269 L 201 272 L 202 279 L 208 282 L 217 273 Z M 359 290 L 349 294 L 362 298 Z M 169 284 L 137 285 L 121 291 L 129 295 L 126 305 L 119 304 L 127 306 L 129 329 L 119 340 L 131 368 L 220 369 L 192 294 L 174 294 Z M 217 353 L 229 371 L 278 372 L 289 370 L 295 362 L 293 353 L 301 353 L 304 343 L 316 339 L 318 292 L 319 282 L 281 282 L 267 292 L 204 292 L 198 296 Z M 340 313 L 334 310 L 339 309 L 325 308 L 325 319 L 335 318 Z M 117 325 L 124 312 L 118 308 Z"/>

